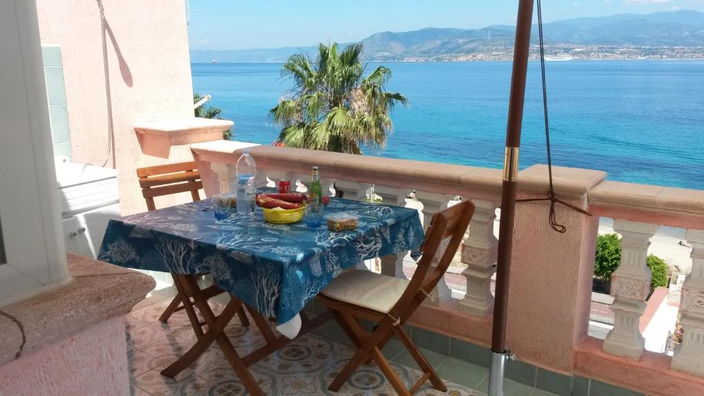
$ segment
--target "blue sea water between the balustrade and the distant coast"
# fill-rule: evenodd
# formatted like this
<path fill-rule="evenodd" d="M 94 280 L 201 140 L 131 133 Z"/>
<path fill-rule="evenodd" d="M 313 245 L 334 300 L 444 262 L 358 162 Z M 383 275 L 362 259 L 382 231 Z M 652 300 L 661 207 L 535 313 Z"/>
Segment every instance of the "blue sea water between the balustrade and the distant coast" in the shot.
<path fill-rule="evenodd" d="M 393 158 L 501 168 L 510 62 L 385 63 L 406 95 L 386 148 Z M 281 64 L 191 65 L 194 92 L 211 94 L 234 139 L 270 144 L 268 110 L 291 82 Z M 370 63 L 367 68 L 375 67 Z M 600 169 L 610 180 L 704 190 L 703 61 L 546 63 L 555 165 Z M 531 62 L 520 167 L 546 163 L 539 63 Z"/>

